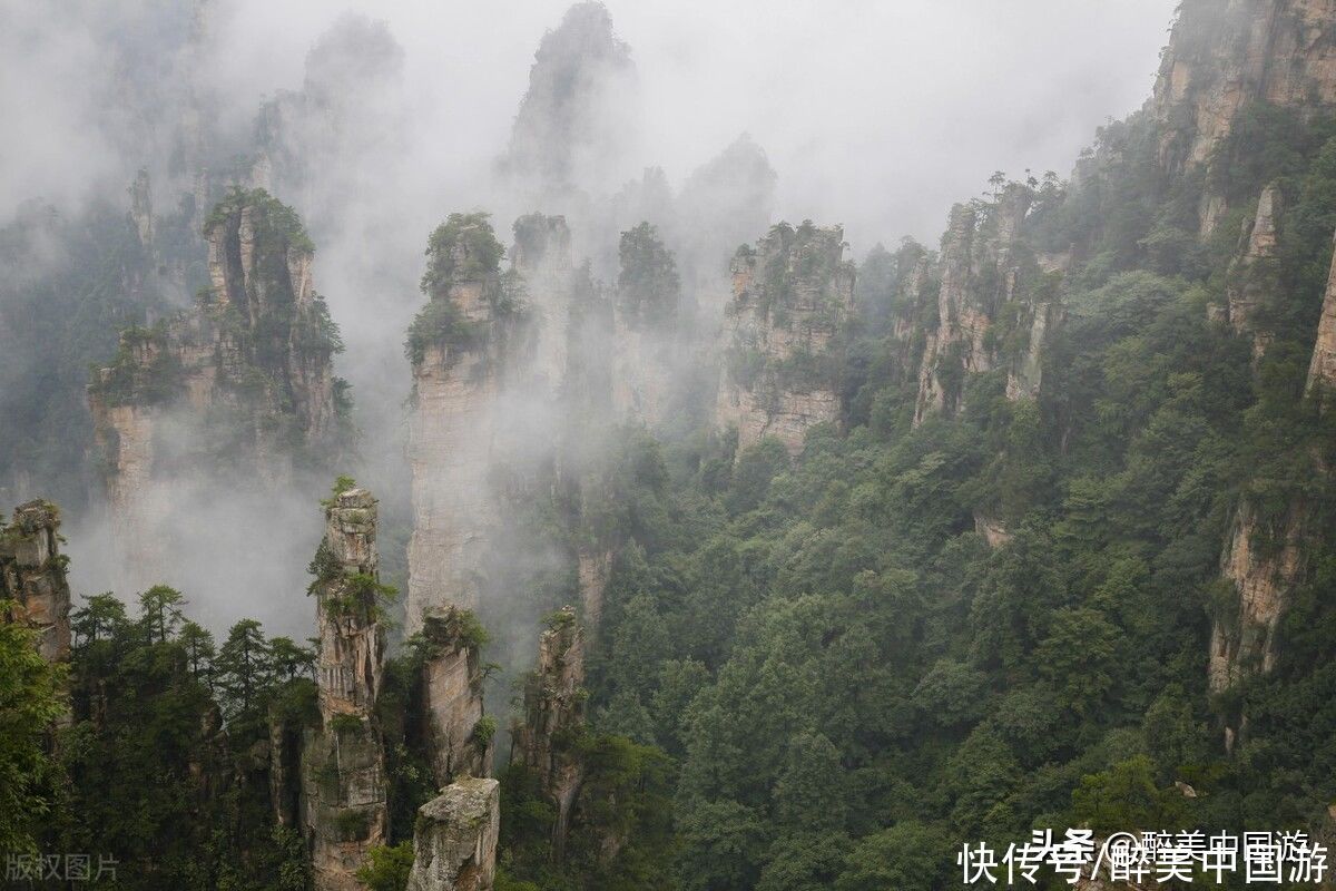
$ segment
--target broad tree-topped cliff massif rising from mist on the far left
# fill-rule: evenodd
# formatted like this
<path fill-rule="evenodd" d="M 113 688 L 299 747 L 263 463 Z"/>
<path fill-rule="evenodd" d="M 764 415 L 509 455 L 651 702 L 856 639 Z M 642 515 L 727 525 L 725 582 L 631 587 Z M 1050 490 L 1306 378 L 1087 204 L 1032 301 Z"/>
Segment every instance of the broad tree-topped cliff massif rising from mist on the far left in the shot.
<path fill-rule="evenodd" d="M 182 468 L 215 482 L 286 480 L 338 449 L 338 329 L 311 283 L 314 250 L 295 214 L 234 192 L 207 226 L 210 287 L 194 309 L 120 335 L 88 386 L 112 518 L 136 530 L 128 562 L 155 580 Z M 228 469 L 235 480 L 227 478 Z"/>

